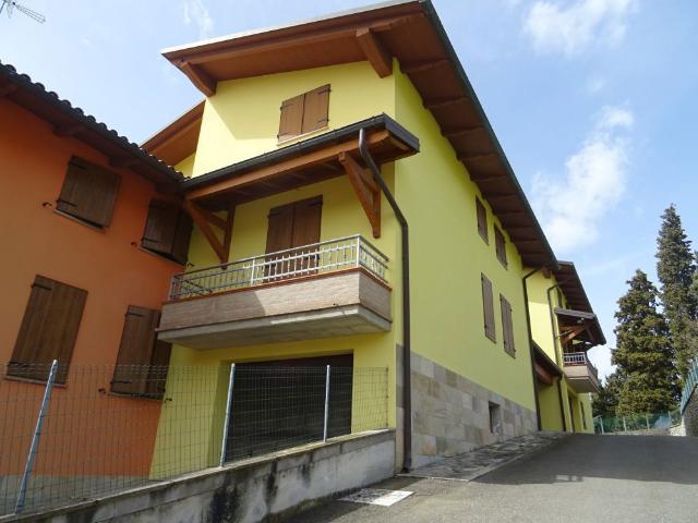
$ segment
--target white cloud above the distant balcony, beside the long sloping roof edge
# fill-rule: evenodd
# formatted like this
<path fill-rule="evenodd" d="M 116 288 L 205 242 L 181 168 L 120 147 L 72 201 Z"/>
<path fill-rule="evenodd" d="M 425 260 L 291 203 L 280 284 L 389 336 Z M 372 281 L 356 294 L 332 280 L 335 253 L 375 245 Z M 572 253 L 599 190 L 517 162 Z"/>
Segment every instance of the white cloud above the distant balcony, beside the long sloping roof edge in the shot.
<path fill-rule="evenodd" d="M 567 158 L 563 177 L 535 174 L 533 206 L 556 252 L 597 241 L 604 215 L 625 192 L 633 124 L 627 109 L 604 108 L 579 150 Z"/>

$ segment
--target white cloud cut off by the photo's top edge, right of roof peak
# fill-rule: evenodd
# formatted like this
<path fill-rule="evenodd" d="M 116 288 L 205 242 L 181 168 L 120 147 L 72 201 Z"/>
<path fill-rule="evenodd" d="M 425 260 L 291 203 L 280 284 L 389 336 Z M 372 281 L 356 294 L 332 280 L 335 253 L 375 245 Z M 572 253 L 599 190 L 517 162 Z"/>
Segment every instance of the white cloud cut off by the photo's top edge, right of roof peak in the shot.
<path fill-rule="evenodd" d="M 539 0 L 524 21 L 539 52 L 577 54 L 595 45 L 613 46 L 627 31 L 637 0 L 575 0 L 566 7 Z"/>

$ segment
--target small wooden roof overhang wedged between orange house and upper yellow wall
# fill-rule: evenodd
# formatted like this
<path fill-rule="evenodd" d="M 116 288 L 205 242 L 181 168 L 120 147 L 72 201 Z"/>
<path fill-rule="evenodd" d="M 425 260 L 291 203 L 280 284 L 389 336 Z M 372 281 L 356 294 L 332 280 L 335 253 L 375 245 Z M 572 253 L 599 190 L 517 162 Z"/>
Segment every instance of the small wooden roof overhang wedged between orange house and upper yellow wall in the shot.
<path fill-rule="evenodd" d="M 170 125 L 143 142 L 141 147 L 152 155 L 157 155 L 170 166 L 176 166 L 190 157 L 196 150 L 198 143 L 204 102 L 202 100 L 196 104 Z"/>

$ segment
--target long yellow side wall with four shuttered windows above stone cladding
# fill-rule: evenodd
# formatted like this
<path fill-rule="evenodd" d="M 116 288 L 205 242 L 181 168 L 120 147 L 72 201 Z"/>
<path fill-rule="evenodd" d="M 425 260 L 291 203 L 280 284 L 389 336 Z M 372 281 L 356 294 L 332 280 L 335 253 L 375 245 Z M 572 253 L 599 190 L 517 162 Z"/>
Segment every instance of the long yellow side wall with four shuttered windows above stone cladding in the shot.
<path fill-rule="evenodd" d="M 478 234 L 480 192 L 407 76 L 395 71 L 397 121 L 420 138 L 421 153 L 396 163 L 397 200 L 410 224 L 412 350 L 528 408 L 535 408 L 521 278 L 507 239 L 508 269 Z M 493 283 L 496 342 L 484 336 L 480 275 Z M 504 352 L 500 293 L 514 314 L 516 357 Z"/>

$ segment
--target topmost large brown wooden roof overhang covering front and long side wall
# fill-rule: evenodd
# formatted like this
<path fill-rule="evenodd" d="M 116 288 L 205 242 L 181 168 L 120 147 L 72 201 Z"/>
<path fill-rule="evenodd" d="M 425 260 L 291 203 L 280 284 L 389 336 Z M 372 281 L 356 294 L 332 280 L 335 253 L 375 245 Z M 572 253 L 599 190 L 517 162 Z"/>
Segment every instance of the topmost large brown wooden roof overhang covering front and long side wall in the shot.
<path fill-rule="evenodd" d="M 368 60 L 413 83 L 516 244 L 524 264 L 556 267 L 555 256 L 466 76 L 431 2 L 389 2 L 291 26 L 171 48 L 164 56 L 206 96 L 218 81 Z"/>

